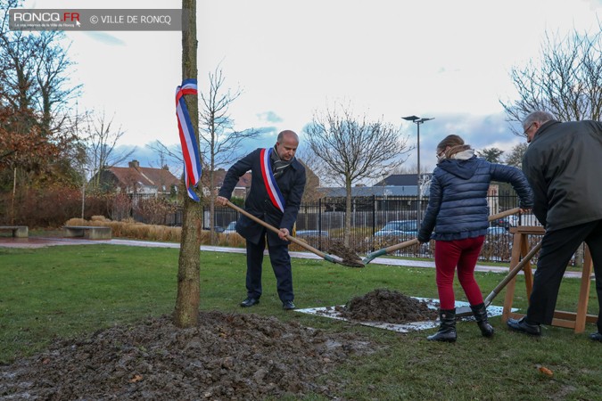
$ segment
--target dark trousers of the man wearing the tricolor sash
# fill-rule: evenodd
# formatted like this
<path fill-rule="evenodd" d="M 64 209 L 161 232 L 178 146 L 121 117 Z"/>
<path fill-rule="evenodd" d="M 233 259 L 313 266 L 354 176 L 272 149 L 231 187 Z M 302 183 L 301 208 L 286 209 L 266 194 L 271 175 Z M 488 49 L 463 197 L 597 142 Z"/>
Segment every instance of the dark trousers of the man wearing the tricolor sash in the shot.
<path fill-rule="evenodd" d="M 259 299 L 261 297 L 261 265 L 263 251 L 266 249 L 266 235 L 261 235 L 257 244 L 247 241 L 247 296 Z M 293 272 L 288 245 L 270 245 L 268 243 L 269 260 L 276 275 L 276 289 L 281 301 L 292 301 Z"/>

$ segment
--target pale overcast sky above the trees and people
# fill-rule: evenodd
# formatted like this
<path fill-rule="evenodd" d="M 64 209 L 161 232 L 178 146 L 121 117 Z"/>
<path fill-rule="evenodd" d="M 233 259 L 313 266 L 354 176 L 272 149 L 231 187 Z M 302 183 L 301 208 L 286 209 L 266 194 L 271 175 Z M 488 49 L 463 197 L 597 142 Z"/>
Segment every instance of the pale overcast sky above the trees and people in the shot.
<path fill-rule="evenodd" d="M 180 8 L 171 0 L 36 0 L 25 8 Z M 499 101 L 515 99 L 509 71 L 538 58 L 545 33 L 598 29 L 602 0 L 211 0 L 197 4 L 199 87 L 223 70 L 243 89 L 230 114 L 236 129 L 266 128 L 249 150 L 301 134 L 316 110 L 350 102 L 383 117 L 416 144 L 421 166 L 458 134 L 475 149 L 509 150 L 513 135 Z M 114 114 L 149 159 L 146 143 L 179 143 L 174 92 L 181 83 L 179 32 L 68 32 L 83 84 L 78 107 Z M 302 144 L 302 135 L 301 135 Z M 156 158 L 154 158 L 156 160 Z M 408 166 L 416 166 L 416 151 Z"/>

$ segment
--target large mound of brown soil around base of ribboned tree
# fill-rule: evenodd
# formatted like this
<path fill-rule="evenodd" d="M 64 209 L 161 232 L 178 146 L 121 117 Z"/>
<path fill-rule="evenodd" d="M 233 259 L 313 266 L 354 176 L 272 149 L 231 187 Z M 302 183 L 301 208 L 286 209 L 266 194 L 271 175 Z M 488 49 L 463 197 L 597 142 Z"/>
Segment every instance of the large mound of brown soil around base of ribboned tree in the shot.
<path fill-rule="evenodd" d="M 202 312 L 197 327 L 177 329 L 166 315 L 0 366 L 0 399 L 334 398 L 344 383 L 325 373 L 374 348 L 364 334 L 276 317 Z"/>

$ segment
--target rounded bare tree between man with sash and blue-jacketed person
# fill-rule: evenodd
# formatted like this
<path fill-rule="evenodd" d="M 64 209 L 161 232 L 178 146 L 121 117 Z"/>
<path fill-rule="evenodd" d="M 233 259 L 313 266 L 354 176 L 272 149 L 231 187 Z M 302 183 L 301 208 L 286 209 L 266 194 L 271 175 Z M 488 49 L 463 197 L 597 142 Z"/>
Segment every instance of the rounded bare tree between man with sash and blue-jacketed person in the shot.
<path fill-rule="evenodd" d="M 311 151 L 321 160 L 320 176 L 330 176 L 345 187 L 345 229 L 343 243 L 349 246 L 351 230 L 351 187 L 362 179 L 383 176 L 402 164 L 408 148 L 408 137 L 401 138 L 400 129 L 382 119 L 369 120 L 356 116 L 350 106 L 334 104 L 323 112 L 315 112 L 304 129 Z"/>

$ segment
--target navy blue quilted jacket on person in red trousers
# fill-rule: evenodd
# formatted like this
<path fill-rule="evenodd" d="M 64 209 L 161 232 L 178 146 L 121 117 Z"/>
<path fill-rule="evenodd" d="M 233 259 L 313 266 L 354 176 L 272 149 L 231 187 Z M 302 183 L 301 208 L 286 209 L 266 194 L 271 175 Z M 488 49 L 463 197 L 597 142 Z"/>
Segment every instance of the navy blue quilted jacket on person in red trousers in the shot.
<path fill-rule="evenodd" d="M 487 233 L 490 215 L 487 190 L 491 181 L 512 184 L 520 207 L 531 209 L 532 190 L 518 168 L 470 157 L 445 159 L 433 171 L 431 193 L 418 240 L 463 240 Z"/>

